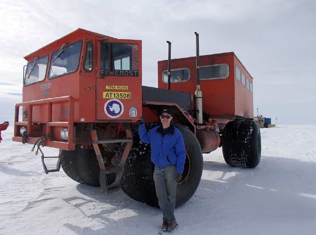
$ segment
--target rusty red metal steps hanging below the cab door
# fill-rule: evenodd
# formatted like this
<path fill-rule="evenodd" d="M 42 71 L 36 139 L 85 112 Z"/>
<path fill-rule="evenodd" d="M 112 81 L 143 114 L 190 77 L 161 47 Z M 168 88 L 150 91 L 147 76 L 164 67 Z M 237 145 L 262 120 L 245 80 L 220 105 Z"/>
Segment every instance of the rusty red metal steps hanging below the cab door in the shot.
<path fill-rule="evenodd" d="M 100 180 L 101 192 L 107 194 L 109 191 L 117 190 L 120 187 L 120 180 L 123 175 L 124 165 L 133 143 L 132 133 L 130 129 L 126 129 L 126 138 L 99 140 L 97 132 L 94 129 L 94 130 L 91 130 L 91 137 L 92 137 L 93 148 L 94 148 L 94 151 L 98 160 L 98 164 L 100 167 L 99 180 Z M 115 167 L 105 167 L 102 154 L 99 148 L 99 144 L 123 143 L 123 142 L 126 142 L 126 147 L 122 153 L 122 157 L 120 158 L 119 163 L 117 163 Z M 111 173 L 117 173 L 117 176 L 116 176 L 115 181 L 112 184 L 108 184 L 107 174 L 111 174 Z"/>

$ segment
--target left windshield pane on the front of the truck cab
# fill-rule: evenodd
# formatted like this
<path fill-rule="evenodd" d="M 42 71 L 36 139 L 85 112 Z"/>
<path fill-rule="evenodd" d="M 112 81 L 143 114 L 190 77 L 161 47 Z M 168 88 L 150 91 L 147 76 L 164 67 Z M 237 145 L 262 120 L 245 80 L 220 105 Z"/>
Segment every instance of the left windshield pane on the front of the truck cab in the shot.
<path fill-rule="evenodd" d="M 48 63 L 48 55 L 30 62 L 26 68 L 24 85 L 30 85 L 44 80 Z"/>

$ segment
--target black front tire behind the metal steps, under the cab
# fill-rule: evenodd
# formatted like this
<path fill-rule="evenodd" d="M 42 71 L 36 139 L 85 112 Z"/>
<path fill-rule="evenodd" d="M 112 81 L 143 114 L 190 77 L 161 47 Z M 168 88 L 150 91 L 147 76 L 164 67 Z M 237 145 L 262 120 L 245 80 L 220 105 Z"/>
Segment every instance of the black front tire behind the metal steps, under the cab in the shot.
<path fill-rule="evenodd" d="M 100 186 L 98 165 L 93 149 L 81 148 L 76 145 L 75 150 L 61 151 L 61 166 L 65 173 L 73 180 L 86 185 Z M 107 176 L 108 184 L 115 181 L 116 174 Z"/>

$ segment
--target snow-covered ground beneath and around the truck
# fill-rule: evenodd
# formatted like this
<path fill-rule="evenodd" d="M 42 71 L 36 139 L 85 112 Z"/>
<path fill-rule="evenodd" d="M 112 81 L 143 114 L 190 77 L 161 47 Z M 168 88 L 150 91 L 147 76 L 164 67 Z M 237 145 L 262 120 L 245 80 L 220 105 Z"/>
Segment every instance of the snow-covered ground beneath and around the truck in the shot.
<path fill-rule="evenodd" d="M 43 172 L 32 146 L 0 143 L 1 235 L 155 235 L 159 209 Z M 204 155 L 195 195 L 176 209 L 177 235 L 315 235 L 316 125 L 261 129 L 257 168 L 231 168 L 221 149 Z M 46 156 L 55 149 L 43 148 Z M 165 234 L 168 234 L 165 232 Z"/>

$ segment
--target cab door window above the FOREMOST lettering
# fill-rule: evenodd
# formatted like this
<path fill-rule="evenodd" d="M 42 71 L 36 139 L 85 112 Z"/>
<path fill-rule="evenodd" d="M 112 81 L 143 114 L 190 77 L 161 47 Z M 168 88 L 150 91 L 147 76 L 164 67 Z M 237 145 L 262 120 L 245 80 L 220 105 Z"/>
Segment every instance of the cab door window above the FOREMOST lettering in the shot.
<path fill-rule="evenodd" d="M 100 69 L 100 75 L 138 76 L 138 46 L 101 43 Z"/>

